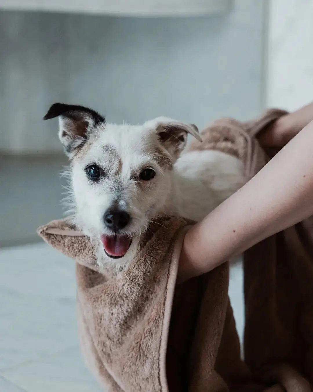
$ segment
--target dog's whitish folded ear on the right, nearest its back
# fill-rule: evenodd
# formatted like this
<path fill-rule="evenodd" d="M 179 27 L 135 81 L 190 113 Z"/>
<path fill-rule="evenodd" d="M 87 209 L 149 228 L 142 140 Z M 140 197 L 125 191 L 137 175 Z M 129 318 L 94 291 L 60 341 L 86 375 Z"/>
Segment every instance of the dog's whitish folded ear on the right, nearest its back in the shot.
<path fill-rule="evenodd" d="M 165 144 L 171 154 L 178 157 L 187 143 L 187 134 L 191 134 L 199 142 L 202 139 L 198 128 L 193 124 L 185 124 L 171 118 L 158 117 L 146 123 L 153 126 L 159 140 Z"/>

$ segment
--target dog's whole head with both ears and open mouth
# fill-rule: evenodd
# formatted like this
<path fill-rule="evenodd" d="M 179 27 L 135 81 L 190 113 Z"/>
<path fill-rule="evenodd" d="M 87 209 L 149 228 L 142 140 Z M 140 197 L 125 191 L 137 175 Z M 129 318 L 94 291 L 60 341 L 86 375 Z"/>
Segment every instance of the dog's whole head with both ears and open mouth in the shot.
<path fill-rule="evenodd" d="M 196 127 L 167 118 L 115 125 L 81 106 L 52 105 L 59 138 L 71 160 L 76 224 L 98 243 L 104 258 L 131 257 L 151 220 L 166 214 L 173 164 Z M 128 257 L 129 258 L 129 257 Z"/>

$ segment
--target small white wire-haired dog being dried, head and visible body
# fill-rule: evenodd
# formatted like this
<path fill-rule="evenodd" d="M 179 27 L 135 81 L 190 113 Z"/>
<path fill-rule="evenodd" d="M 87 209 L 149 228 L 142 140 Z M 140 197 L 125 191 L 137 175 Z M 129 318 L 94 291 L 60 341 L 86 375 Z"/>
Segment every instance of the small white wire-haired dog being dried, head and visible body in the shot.
<path fill-rule="evenodd" d="M 107 123 L 96 111 L 54 103 L 70 159 L 74 224 L 97 245 L 98 263 L 127 266 L 149 223 L 164 216 L 199 221 L 243 184 L 239 159 L 183 151 L 195 125 L 158 117 L 143 125 Z"/>

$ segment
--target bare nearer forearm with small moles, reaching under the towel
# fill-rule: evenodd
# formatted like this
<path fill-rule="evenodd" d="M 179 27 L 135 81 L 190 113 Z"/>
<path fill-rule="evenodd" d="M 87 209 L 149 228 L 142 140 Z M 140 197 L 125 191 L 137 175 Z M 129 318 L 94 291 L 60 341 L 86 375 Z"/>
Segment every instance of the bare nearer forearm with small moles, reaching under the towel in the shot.
<path fill-rule="evenodd" d="M 207 272 L 313 214 L 313 122 L 185 236 L 178 280 Z"/>

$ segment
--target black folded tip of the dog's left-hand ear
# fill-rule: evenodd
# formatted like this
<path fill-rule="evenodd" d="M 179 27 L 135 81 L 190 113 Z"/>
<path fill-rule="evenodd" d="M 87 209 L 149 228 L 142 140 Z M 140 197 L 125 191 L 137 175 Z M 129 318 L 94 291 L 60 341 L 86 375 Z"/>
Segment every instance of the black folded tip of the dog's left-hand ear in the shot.
<path fill-rule="evenodd" d="M 95 125 L 105 122 L 105 117 L 101 116 L 101 114 L 89 107 L 81 105 L 67 105 L 66 103 L 54 103 L 48 110 L 47 114 L 43 117 L 43 120 L 50 120 L 50 118 L 58 116 L 75 118 L 77 113 L 86 113 L 94 120 Z"/>

